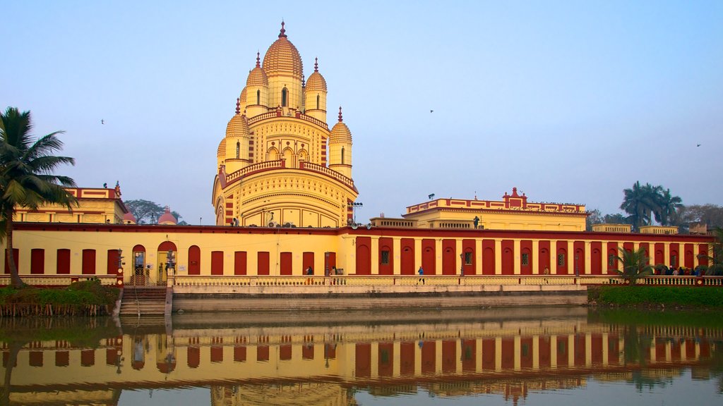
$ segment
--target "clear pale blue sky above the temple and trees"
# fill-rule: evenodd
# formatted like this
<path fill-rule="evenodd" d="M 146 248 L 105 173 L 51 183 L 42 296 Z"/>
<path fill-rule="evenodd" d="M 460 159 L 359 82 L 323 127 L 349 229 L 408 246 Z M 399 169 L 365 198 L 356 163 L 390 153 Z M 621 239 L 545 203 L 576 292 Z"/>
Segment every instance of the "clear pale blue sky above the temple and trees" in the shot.
<path fill-rule="evenodd" d="M 603 214 L 636 181 L 723 204 L 723 1 L 203 3 L 0 0 L 0 109 L 65 131 L 78 186 L 210 225 L 218 142 L 283 20 L 330 126 L 343 107 L 358 221 L 515 186 Z"/>

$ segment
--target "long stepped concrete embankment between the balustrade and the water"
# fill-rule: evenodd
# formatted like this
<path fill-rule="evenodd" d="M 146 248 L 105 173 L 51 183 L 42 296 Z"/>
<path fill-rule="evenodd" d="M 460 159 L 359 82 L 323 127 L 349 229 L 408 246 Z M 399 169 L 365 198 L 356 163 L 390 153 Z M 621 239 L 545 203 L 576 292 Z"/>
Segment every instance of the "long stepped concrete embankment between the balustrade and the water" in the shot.
<path fill-rule="evenodd" d="M 289 311 L 330 309 L 487 308 L 501 306 L 583 306 L 580 285 L 484 285 L 334 287 L 174 288 L 174 313 L 205 311 Z"/>

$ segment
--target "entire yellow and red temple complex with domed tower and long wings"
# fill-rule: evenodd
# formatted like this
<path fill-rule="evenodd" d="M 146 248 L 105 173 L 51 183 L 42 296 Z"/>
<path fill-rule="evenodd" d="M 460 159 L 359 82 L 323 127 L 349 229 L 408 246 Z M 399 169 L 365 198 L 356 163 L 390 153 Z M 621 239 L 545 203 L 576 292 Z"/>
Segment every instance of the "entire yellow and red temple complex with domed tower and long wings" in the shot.
<path fill-rule="evenodd" d="M 327 291 L 346 278 L 333 289 L 351 291 L 356 284 L 395 293 L 422 289 L 405 285 L 414 278 L 399 278 L 422 268 L 430 277 L 423 289 L 455 285 L 479 293 L 489 284 L 539 290 L 549 283 L 542 275 L 576 287 L 610 282 L 607 276 L 621 268 L 620 249 L 644 249 L 651 264 L 708 264 L 711 236 L 656 227 L 631 233 L 624 225 L 589 232 L 583 204 L 533 202 L 516 188 L 500 200 L 430 195 L 401 218 L 357 223 L 351 131 L 341 108 L 334 109 L 329 129 L 328 87 L 317 59 L 304 80 L 301 56 L 282 23 L 263 59 L 257 53 L 249 65 L 216 167 L 209 168 L 215 225 L 176 225 L 170 212 L 156 225 L 139 225 L 119 186 L 70 189 L 79 207 L 18 210 L 12 254 L 22 279 L 67 285 L 98 278 L 119 286 L 173 287 L 175 294 L 261 292 L 269 286 L 288 292 L 304 284 Z M 10 252 L 0 264 L 0 285 L 9 283 Z M 531 278 L 518 277 L 523 275 Z"/>

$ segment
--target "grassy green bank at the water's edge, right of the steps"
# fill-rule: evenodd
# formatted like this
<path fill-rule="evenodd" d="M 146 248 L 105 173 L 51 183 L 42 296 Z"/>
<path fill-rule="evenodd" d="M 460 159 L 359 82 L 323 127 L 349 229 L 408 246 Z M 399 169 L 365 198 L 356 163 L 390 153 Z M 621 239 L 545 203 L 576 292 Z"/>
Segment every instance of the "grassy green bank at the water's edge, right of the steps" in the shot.
<path fill-rule="evenodd" d="M 723 308 L 723 289 L 687 286 L 591 286 L 588 302 L 595 306 Z"/>

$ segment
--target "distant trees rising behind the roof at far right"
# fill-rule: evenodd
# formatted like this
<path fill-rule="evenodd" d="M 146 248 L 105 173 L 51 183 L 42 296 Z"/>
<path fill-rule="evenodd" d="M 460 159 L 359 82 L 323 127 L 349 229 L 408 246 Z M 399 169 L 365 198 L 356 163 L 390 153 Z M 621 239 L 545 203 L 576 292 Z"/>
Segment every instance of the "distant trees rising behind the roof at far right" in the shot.
<path fill-rule="evenodd" d="M 644 185 L 640 181 L 633 187 L 623 189 L 623 213 L 603 215 L 599 210 L 591 210 L 587 219 L 588 230 L 600 223 L 630 224 L 633 230 L 641 226 L 659 225 L 678 227 L 681 233 L 687 233 L 691 224 L 702 223 L 709 228 L 723 227 L 723 207 L 716 204 L 691 204 L 685 206 L 680 196 L 675 196 L 663 186 Z"/>

